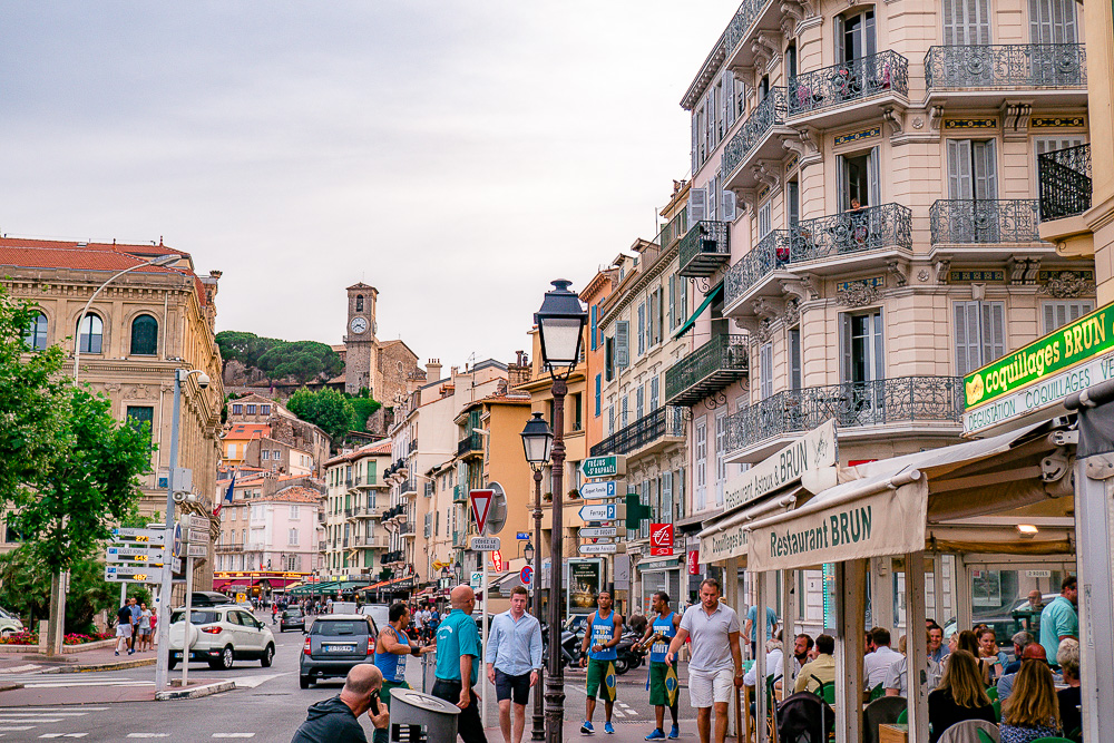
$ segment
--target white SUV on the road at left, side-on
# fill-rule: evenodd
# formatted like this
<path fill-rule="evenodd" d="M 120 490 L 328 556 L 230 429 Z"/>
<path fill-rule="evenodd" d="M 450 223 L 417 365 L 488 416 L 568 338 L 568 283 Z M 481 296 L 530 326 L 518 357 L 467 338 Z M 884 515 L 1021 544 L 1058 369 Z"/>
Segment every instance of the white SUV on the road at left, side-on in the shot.
<path fill-rule="evenodd" d="M 182 659 L 186 610 L 170 615 L 170 667 Z M 234 661 L 258 661 L 271 667 L 275 636 L 265 624 L 240 606 L 205 606 L 189 612 L 189 659 L 213 668 L 231 668 Z"/>

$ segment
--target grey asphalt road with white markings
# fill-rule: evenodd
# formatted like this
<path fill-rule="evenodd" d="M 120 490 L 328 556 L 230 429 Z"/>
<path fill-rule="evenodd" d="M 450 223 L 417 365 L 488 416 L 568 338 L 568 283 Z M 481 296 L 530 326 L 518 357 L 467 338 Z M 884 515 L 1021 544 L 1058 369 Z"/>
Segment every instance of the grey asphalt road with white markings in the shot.
<path fill-rule="evenodd" d="M 261 615 L 261 619 L 262 619 Z M 297 632 L 275 633 L 277 645 L 274 665 L 263 668 L 257 661 L 237 661 L 231 671 L 214 671 L 207 665 L 189 666 L 193 680 L 235 680 L 236 691 L 198 700 L 176 702 L 120 702 L 109 704 L 81 704 L 88 686 L 133 686 L 154 688 L 153 666 L 127 671 L 88 674 L 0 674 L 2 681 L 20 681 L 28 687 L 57 690 L 50 705 L 36 707 L 6 706 L 0 695 L 0 743 L 31 740 L 113 741 L 170 740 L 203 741 L 240 739 L 287 743 L 294 730 L 305 718 L 311 704 L 340 692 L 342 681 L 324 682 L 307 690 L 297 685 L 297 658 L 303 637 Z M 432 656 L 430 656 L 432 659 Z M 421 690 L 421 666 L 408 664 L 410 684 Z M 180 675 L 180 666 L 173 672 Z M 583 720 L 584 674 L 566 674 L 566 721 Z M 431 680 L 430 680 L 430 683 Z M 619 723 L 649 723 L 654 710 L 647 703 L 645 665 L 619 677 L 618 700 L 614 721 Z M 490 686 L 489 686 L 490 688 Z M 681 718 L 694 721 L 688 707 L 687 692 L 681 692 Z M 501 741 L 498 732 L 498 712 L 494 693 L 490 696 L 489 740 Z M 528 707 L 528 711 L 530 707 Z M 603 726 L 603 705 L 595 715 L 597 734 Z M 667 723 L 668 724 L 668 723 Z M 529 740 L 527 720 L 527 740 Z M 369 730 L 370 724 L 365 724 Z M 682 724 L 683 739 L 695 739 L 692 722 Z"/>

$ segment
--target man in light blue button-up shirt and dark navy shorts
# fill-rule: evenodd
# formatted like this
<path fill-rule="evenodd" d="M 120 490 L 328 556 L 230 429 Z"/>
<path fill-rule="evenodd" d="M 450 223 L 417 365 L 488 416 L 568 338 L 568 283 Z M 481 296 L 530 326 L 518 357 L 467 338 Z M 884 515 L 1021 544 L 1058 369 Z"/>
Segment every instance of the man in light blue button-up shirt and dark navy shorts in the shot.
<path fill-rule="evenodd" d="M 491 619 L 488 635 L 488 680 L 499 700 L 499 727 L 504 743 L 522 743 L 526 703 L 541 668 L 541 625 L 526 613 L 527 590 L 515 586 L 510 609 Z M 515 737 L 510 736 L 510 705 L 515 704 Z"/>

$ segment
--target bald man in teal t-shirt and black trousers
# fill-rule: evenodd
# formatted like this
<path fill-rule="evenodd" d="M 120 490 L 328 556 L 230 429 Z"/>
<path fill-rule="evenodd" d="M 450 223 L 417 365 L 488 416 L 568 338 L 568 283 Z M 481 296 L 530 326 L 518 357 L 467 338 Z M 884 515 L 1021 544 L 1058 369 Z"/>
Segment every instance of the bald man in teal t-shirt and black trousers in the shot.
<path fill-rule="evenodd" d="M 460 707 L 457 733 L 465 743 L 487 743 L 472 686 L 479 677 L 480 633 L 472 619 L 476 594 L 468 586 L 457 586 L 449 594 L 452 612 L 437 628 L 437 668 L 431 693 Z M 463 681 L 467 680 L 467 681 Z"/>

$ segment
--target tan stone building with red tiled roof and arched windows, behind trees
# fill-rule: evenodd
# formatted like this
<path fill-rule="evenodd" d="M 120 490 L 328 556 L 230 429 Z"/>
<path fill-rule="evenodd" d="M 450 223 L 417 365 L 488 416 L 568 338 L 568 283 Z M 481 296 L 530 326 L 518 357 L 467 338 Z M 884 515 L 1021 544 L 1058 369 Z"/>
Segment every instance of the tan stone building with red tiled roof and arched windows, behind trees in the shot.
<path fill-rule="evenodd" d="M 80 381 L 106 393 L 120 420 L 152 426 L 157 447 L 152 452 L 153 472 L 143 479 L 139 510 L 159 519 L 166 510 L 178 369 L 202 370 L 211 380 L 207 389 L 197 385 L 196 375 L 183 384 L 178 466 L 192 470 L 193 491 L 199 498 L 187 508 L 203 515 L 213 510 L 224 400 L 221 354 L 214 341 L 221 273 L 199 276 L 188 253 L 162 244 L 0 238 L 0 281 L 12 295 L 36 302 L 41 311 L 29 342 L 35 348 L 57 343 L 71 359 L 78 319 L 94 291 L 119 271 L 168 254 L 178 260 L 165 268 L 145 266 L 127 273 L 101 291 L 80 332 Z M 214 522 L 214 535 L 216 529 Z M 196 577 L 195 585 L 212 584 L 212 559 L 204 561 Z"/>

